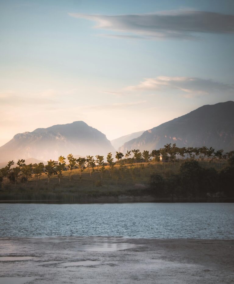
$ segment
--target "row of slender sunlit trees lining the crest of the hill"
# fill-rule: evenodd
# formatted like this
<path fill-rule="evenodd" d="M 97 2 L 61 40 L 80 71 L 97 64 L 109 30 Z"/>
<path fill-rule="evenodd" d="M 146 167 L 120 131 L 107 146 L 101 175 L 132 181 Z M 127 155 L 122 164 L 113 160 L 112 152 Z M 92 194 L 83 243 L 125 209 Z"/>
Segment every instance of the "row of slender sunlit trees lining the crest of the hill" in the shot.
<path fill-rule="evenodd" d="M 59 179 L 59 183 L 63 177 L 63 172 L 69 170 L 69 182 L 71 181 L 71 176 L 74 169 L 79 170 L 79 176 L 81 179 L 81 174 L 85 168 L 88 169 L 90 176 L 94 172 L 94 168 L 96 171 L 99 172 L 100 178 L 102 179 L 103 172 L 106 170 L 105 166 L 107 166 L 107 171 L 111 175 L 111 171 L 113 170 L 114 166 L 116 166 L 117 170 L 122 165 L 121 161 L 124 157 L 124 162 L 126 167 L 128 167 L 129 162 L 134 163 L 136 168 L 140 167 L 140 163 L 143 163 L 144 168 L 147 168 L 148 164 L 151 163 L 154 167 L 157 167 L 158 162 L 160 164 L 175 163 L 176 160 L 182 164 L 182 161 L 185 159 L 191 160 L 204 160 L 216 158 L 218 160 L 222 159 L 229 159 L 234 155 L 234 151 L 230 151 L 228 153 L 224 153 L 222 149 L 215 151 L 214 148 L 210 147 L 207 148 L 206 146 L 203 147 L 182 147 L 179 148 L 176 144 L 166 144 L 163 148 L 158 150 L 153 150 L 151 153 L 147 150 L 144 150 L 142 153 L 139 149 L 133 149 L 131 151 L 127 151 L 125 154 L 121 152 L 116 152 L 114 162 L 114 157 L 112 153 L 108 153 L 105 158 L 104 156 L 97 155 L 96 159 L 94 156 L 87 156 L 79 157 L 76 159 L 73 157 L 72 154 L 67 156 L 68 165 L 66 167 L 66 159 L 63 156 L 58 158 L 58 161 L 49 160 L 47 165 L 43 163 L 38 164 L 25 164 L 25 160 L 21 159 L 18 160 L 16 163 L 17 166 L 11 168 L 15 163 L 14 161 L 9 161 L 9 163 L 0 169 L 0 181 L 5 185 L 7 179 L 11 183 L 16 183 L 21 180 L 21 182 L 28 183 L 29 179 L 34 175 L 36 177 L 36 184 L 38 184 L 39 177 L 42 173 L 45 173 L 48 176 L 48 183 L 53 175 L 57 175 Z M 132 157 L 130 157 L 132 156 Z"/>

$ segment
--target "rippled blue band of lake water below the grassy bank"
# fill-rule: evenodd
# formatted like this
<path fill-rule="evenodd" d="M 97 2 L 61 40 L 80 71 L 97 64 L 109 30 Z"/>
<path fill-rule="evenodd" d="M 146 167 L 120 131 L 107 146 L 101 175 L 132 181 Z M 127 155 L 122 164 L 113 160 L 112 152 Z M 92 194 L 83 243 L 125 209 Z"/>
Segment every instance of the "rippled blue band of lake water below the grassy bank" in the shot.
<path fill-rule="evenodd" d="M 233 203 L 0 204 L 0 237 L 234 239 Z"/>

